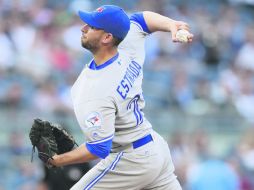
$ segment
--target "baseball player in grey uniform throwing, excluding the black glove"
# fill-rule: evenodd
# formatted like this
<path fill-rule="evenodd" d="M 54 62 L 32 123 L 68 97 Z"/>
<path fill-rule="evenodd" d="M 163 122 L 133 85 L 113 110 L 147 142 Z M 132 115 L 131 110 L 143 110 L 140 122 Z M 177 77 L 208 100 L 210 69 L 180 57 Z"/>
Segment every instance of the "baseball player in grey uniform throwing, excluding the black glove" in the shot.
<path fill-rule="evenodd" d="M 71 190 L 180 190 L 166 141 L 144 116 L 142 92 L 146 36 L 171 32 L 174 42 L 191 42 L 182 21 L 154 12 L 127 16 L 114 5 L 79 11 L 81 45 L 93 60 L 81 71 L 71 94 L 86 142 L 47 160 L 52 166 L 101 161 Z M 185 36 L 177 38 L 177 32 Z M 181 40 L 184 39 L 184 40 Z"/>

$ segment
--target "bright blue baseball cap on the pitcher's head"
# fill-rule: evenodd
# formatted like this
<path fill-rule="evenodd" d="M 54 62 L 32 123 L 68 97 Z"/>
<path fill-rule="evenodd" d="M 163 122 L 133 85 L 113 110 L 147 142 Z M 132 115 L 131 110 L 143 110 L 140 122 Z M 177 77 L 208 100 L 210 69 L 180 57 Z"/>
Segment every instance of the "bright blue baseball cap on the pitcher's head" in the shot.
<path fill-rule="evenodd" d="M 115 5 L 103 5 L 93 12 L 78 12 L 80 19 L 97 29 L 124 39 L 130 30 L 130 19 L 124 10 Z"/>

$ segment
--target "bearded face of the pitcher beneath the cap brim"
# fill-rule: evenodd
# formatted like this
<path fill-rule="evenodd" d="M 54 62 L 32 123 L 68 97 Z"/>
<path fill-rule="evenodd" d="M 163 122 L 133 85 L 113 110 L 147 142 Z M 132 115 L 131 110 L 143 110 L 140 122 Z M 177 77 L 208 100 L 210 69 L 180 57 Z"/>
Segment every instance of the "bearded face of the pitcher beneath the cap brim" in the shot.
<path fill-rule="evenodd" d="M 95 53 L 100 47 L 102 35 L 105 33 L 103 30 L 93 28 L 89 25 L 84 25 L 81 29 L 81 45 L 82 47 Z"/>

